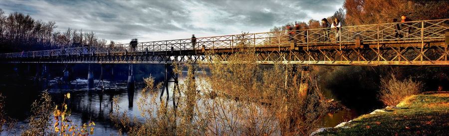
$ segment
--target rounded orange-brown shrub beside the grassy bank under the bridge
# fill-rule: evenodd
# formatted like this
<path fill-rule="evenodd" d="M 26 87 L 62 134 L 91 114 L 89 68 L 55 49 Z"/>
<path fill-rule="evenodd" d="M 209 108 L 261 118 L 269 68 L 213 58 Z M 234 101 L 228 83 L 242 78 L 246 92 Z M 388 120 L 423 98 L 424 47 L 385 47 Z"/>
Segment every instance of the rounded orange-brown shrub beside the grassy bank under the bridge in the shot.
<path fill-rule="evenodd" d="M 380 100 L 387 106 L 395 106 L 405 97 L 420 93 L 423 87 L 420 81 L 413 81 L 412 78 L 398 80 L 392 74 L 391 79 L 381 80 Z"/>

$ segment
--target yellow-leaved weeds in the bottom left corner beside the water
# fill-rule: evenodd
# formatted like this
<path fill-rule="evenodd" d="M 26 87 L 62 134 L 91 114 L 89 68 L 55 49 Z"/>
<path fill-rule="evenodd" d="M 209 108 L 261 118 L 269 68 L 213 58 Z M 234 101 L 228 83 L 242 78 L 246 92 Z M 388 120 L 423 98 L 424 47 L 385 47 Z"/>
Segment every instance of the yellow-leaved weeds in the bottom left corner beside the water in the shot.
<path fill-rule="evenodd" d="M 65 100 L 70 99 L 70 93 L 64 95 L 64 102 L 61 105 L 54 105 L 50 94 L 47 91 L 42 92 L 40 98 L 31 105 L 31 115 L 27 119 L 28 124 L 21 126 L 23 129 L 20 136 L 88 136 L 94 132 L 94 122 L 83 124 L 78 127 L 69 120 L 70 109 L 67 108 Z M 8 121 L 8 127 L 5 131 L 11 134 L 15 132 L 14 120 L 11 120 L 4 114 L 4 97 L 0 94 L 0 125 L 1 127 Z M 54 119 L 54 120 L 52 120 Z M 54 124 L 52 124 L 54 123 Z M 4 130 L 0 130 L 0 133 Z M 1 135 L 1 134 L 0 134 Z M 15 133 L 11 134 L 16 136 Z"/>

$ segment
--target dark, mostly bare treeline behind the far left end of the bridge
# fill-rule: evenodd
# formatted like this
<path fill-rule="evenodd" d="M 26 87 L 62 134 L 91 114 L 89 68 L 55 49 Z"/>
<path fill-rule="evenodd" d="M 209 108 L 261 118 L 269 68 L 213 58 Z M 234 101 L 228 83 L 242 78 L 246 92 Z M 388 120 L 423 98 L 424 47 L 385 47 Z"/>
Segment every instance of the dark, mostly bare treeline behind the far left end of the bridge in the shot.
<path fill-rule="evenodd" d="M 106 45 L 94 32 L 68 28 L 55 31 L 54 21 L 43 22 L 23 13 L 6 15 L 0 8 L 0 52 L 21 52 L 80 46 Z M 113 41 L 110 42 L 114 44 Z"/>

